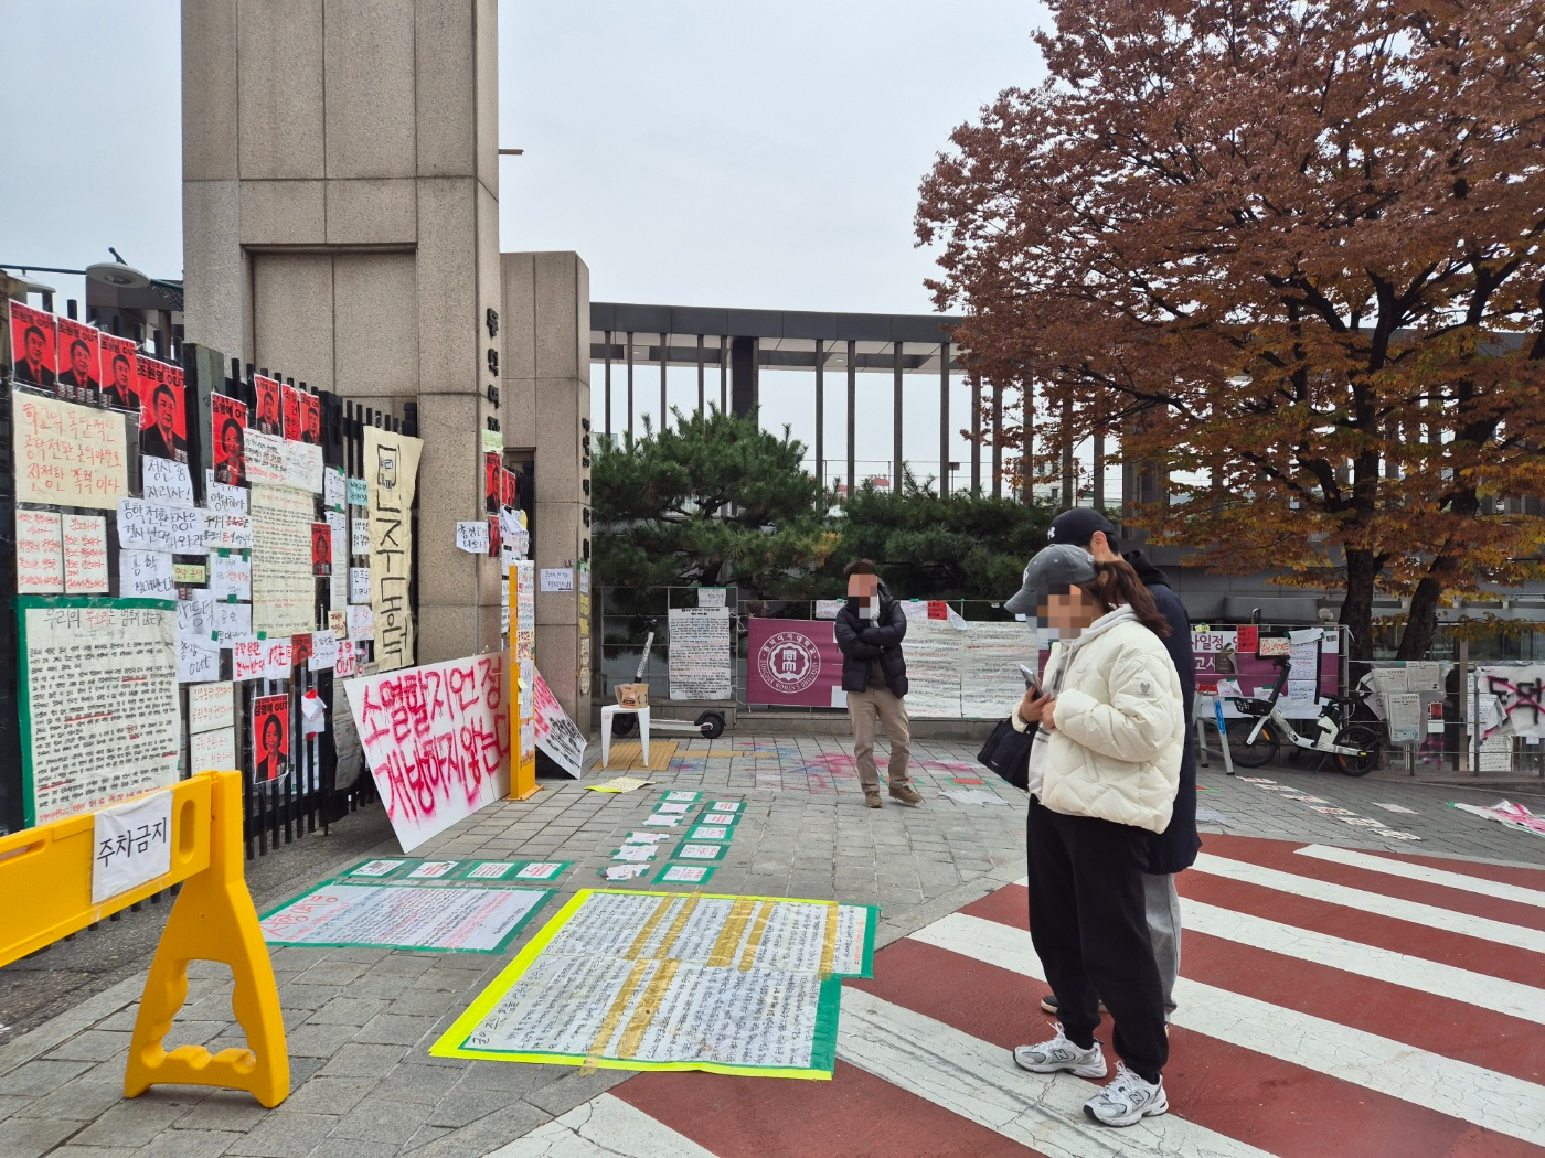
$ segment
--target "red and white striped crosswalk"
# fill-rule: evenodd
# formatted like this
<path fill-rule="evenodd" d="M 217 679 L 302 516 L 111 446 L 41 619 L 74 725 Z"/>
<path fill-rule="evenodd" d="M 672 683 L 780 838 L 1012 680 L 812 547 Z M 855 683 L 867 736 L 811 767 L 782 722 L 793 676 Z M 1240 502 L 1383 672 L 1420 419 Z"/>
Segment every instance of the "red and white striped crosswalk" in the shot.
<path fill-rule="evenodd" d="M 1021 882 L 847 985 L 831 1082 L 638 1075 L 494 1156 L 1545 1158 L 1545 869 L 1208 837 L 1179 880 L 1165 1116 L 1014 1067 L 1049 1021 Z"/>

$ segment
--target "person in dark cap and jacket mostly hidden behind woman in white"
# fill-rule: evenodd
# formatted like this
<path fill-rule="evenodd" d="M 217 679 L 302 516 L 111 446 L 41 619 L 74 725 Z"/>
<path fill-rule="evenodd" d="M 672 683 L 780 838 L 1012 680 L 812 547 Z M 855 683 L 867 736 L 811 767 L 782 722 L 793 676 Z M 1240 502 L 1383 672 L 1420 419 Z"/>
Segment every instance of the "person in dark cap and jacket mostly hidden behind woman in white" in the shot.
<path fill-rule="evenodd" d="M 1180 676 L 1180 701 L 1185 706 L 1185 753 L 1180 757 L 1180 787 L 1174 798 L 1170 826 L 1148 840 L 1148 868 L 1143 874 L 1143 894 L 1148 909 L 1148 936 L 1154 943 L 1154 959 L 1159 962 L 1159 977 L 1163 982 L 1165 1019 L 1174 1013 L 1174 979 L 1180 973 L 1180 897 L 1174 891 L 1174 874 L 1191 868 L 1202 840 L 1196 834 L 1196 746 L 1191 741 L 1191 707 L 1196 699 L 1196 656 L 1191 653 L 1191 622 L 1163 571 L 1154 567 L 1142 551 L 1117 554 L 1112 548 L 1115 527 L 1098 511 L 1074 506 L 1063 511 L 1046 533 L 1054 543 L 1083 547 L 1095 562 L 1126 559 L 1143 581 L 1148 593 L 1165 619 L 1170 635 L 1165 650 Z M 1041 1008 L 1057 1013 L 1057 996 L 1041 999 Z"/>

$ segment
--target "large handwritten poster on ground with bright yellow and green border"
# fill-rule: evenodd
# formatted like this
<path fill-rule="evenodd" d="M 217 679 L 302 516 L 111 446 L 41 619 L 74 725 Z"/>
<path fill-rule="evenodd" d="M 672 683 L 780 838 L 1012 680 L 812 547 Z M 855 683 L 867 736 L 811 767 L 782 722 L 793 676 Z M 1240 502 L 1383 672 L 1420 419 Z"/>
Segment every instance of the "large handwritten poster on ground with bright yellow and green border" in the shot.
<path fill-rule="evenodd" d="M 430 1053 L 831 1078 L 840 979 L 871 976 L 876 914 L 584 889 Z"/>

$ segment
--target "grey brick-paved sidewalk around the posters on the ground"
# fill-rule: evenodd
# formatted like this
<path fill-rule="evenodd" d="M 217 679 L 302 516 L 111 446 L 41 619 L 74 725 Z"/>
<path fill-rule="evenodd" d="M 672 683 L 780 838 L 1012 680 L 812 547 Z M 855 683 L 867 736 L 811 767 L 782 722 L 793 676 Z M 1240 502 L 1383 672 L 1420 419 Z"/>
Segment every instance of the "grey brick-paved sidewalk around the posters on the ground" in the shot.
<path fill-rule="evenodd" d="M 1024 872 L 1023 797 L 973 763 L 975 747 L 916 744 L 915 775 L 925 803 L 908 809 L 887 801 L 879 812 L 862 806 L 847 746 L 830 736 L 726 735 L 688 741 L 669 770 L 650 774 L 654 787 L 624 795 L 587 792 L 573 781 L 544 781 L 533 801 L 484 809 L 414 852 L 426 858 L 518 855 L 575 862 L 558 885 L 559 897 L 507 953 L 277 950 L 294 1093 L 272 1112 L 246 1095 L 188 1087 L 122 1099 L 124 1058 L 142 974 L 94 996 L 82 990 L 74 1008 L 0 1045 L 0 1155 L 482 1158 L 627 1075 L 439 1059 L 428 1055 L 428 1045 L 567 897 L 603 883 L 599 871 L 610 851 L 652 809 L 661 787 L 701 787 L 748 803 L 712 891 L 878 903 L 884 908 L 878 943 L 887 945 Z M 610 775 L 592 769 L 586 783 Z M 1315 812 L 1304 801 L 1287 800 L 1287 792 L 1228 780 L 1216 769 L 1202 774 L 1200 806 L 1224 820 L 1204 828 L 1545 865 L 1545 841 L 1537 837 L 1446 808 L 1448 800 L 1496 803 L 1496 792 L 1367 783 L 1335 774 L 1261 775 L 1279 787 L 1298 789 L 1293 795 L 1315 795 L 1330 801 L 1327 806 L 1384 820 L 1421 840 L 1380 838 Z M 984 789 L 1004 803 L 959 804 L 939 795 L 956 787 Z M 1389 814 L 1375 803 L 1400 803 L 1414 814 Z M 355 820 L 363 817 L 345 820 L 340 832 Z M 278 860 L 284 855 L 280 852 Z M 343 863 L 362 855 L 354 852 Z M 337 868 L 318 868 L 312 880 Z M 269 903 L 267 897 L 260 900 Z M 215 968 L 198 970 L 168 1044 L 243 1044 L 232 1024 L 229 993 L 229 974 L 221 984 Z"/>

